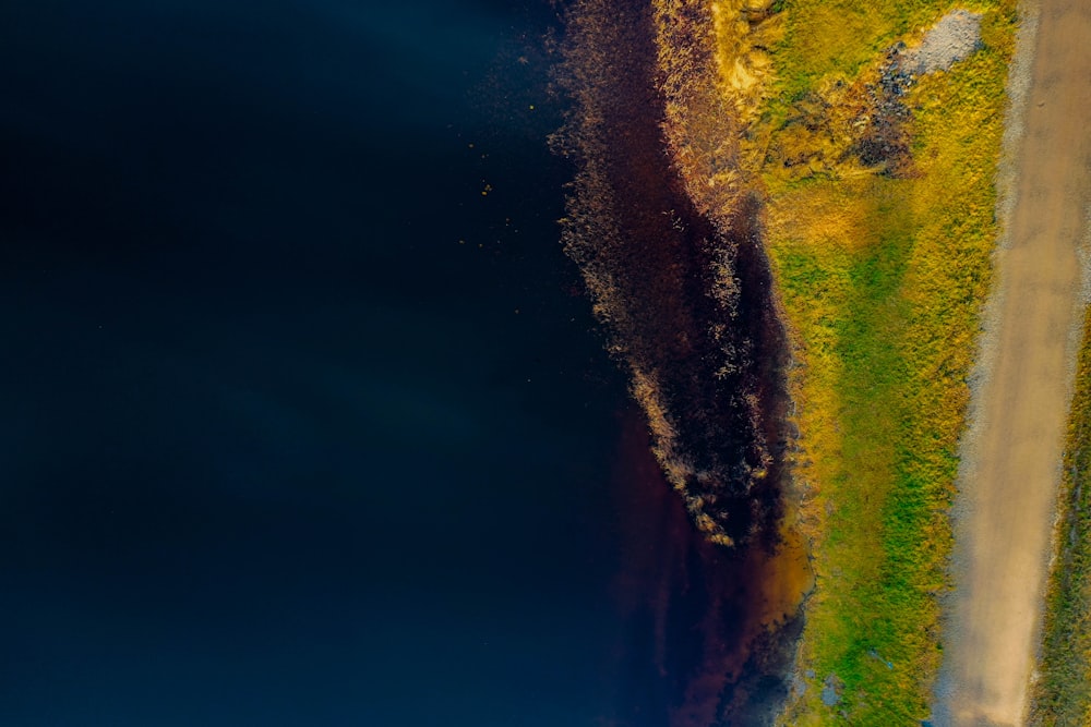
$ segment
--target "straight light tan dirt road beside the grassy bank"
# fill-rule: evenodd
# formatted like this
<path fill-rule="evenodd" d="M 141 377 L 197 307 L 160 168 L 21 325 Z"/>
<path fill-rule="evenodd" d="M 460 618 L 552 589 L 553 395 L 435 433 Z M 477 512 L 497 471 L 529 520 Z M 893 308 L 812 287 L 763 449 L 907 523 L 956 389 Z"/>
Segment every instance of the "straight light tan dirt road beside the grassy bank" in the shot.
<path fill-rule="evenodd" d="M 1091 2 L 1041 0 L 957 506 L 936 725 L 1021 725 L 1040 640 L 1091 203 Z M 1030 9 L 1032 14 L 1034 8 Z"/>

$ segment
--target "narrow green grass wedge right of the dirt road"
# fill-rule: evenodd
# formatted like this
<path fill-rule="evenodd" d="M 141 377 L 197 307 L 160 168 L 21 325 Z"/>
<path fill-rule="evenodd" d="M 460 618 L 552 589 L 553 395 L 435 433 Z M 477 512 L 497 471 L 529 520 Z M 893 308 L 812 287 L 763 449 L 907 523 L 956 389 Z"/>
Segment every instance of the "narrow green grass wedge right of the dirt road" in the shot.
<path fill-rule="evenodd" d="M 1084 317 L 1031 724 L 1091 723 L 1091 316 Z"/>

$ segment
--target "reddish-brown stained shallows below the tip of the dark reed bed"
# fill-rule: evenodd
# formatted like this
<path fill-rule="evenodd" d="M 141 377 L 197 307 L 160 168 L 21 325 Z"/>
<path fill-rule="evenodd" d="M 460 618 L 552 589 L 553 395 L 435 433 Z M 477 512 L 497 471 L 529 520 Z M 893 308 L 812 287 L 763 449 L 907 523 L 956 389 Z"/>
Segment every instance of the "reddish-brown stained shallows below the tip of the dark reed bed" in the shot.
<path fill-rule="evenodd" d="M 648 445 L 634 412 L 614 477 L 624 548 L 614 593 L 626 627 L 616 724 L 768 724 L 789 689 L 806 553 L 799 544 L 770 556 L 760 546 L 709 542 Z M 631 706 L 637 703 L 640 714 Z"/>

